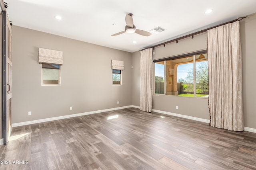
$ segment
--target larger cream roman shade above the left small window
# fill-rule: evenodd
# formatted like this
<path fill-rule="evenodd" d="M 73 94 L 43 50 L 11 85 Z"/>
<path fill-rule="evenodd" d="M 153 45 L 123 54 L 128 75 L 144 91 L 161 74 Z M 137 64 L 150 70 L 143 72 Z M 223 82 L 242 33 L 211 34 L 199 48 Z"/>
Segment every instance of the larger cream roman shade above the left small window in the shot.
<path fill-rule="evenodd" d="M 63 64 L 62 51 L 39 48 L 39 63 Z"/>

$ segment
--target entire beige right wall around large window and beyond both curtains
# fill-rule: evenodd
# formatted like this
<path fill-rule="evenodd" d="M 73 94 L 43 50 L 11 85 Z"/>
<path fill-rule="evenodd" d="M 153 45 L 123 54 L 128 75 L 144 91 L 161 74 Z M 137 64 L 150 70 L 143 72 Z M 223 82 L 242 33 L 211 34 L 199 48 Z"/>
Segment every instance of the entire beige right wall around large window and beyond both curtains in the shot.
<path fill-rule="evenodd" d="M 244 126 L 256 128 L 256 90 L 255 90 L 255 45 L 256 45 L 256 15 L 240 21 L 240 35 L 242 43 L 242 62 L 243 62 L 243 100 L 244 100 Z M 170 43 L 165 47 L 156 47 L 154 59 L 190 53 L 207 48 L 207 35 L 202 33 L 194 36 L 194 39 L 186 38 L 178 41 L 178 43 Z M 140 61 L 140 53 L 132 53 L 132 63 Z M 139 80 L 140 69 L 137 65 L 136 69 L 132 70 L 132 79 Z M 140 85 L 133 83 L 132 104 L 140 106 Z M 178 110 L 175 106 L 179 106 Z M 208 99 L 204 98 L 188 98 L 179 96 L 156 96 L 153 95 L 153 109 L 178 113 L 198 117 L 202 119 L 209 119 Z"/>

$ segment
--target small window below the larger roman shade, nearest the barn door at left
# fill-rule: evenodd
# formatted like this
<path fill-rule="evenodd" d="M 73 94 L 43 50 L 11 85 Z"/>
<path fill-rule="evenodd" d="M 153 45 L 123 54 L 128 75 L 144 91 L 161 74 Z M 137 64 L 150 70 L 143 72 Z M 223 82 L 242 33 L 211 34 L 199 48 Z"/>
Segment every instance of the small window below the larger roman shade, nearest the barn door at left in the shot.
<path fill-rule="evenodd" d="M 60 64 L 41 65 L 41 85 L 60 85 Z"/>

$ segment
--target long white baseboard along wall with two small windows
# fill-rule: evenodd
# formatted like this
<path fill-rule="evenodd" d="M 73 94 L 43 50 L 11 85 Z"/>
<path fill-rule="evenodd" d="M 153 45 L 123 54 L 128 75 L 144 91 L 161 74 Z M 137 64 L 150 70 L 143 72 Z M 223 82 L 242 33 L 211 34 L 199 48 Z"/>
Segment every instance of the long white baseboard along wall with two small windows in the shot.
<path fill-rule="evenodd" d="M 94 113 L 102 113 L 102 112 L 118 110 L 118 109 L 126 109 L 126 108 L 129 108 L 129 107 L 132 107 L 132 106 L 130 105 L 130 106 L 123 106 L 123 107 L 115 107 L 115 108 L 111 108 L 111 109 L 88 111 L 88 112 L 77 113 L 77 114 L 72 114 L 72 115 L 50 117 L 50 118 L 46 118 L 46 119 L 38 119 L 38 120 L 25 121 L 25 122 L 20 122 L 20 123 L 12 123 L 12 127 L 23 126 L 23 125 L 31 125 L 31 124 L 34 124 L 34 123 L 42 123 L 42 122 L 46 122 L 46 121 L 54 121 L 54 120 L 59 120 L 59 119 L 66 119 L 66 118 L 70 118 L 70 117 L 90 115 L 90 114 L 94 114 Z"/>

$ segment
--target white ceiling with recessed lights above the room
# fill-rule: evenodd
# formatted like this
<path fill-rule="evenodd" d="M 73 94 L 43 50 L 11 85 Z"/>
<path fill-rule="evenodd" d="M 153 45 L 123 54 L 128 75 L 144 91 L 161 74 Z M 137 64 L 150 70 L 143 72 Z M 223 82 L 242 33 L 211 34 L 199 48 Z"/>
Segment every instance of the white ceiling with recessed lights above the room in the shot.
<path fill-rule="evenodd" d="M 134 52 L 256 12 L 256 0 L 4 0 L 13 25 Z M 213 9 L 210 14 L 205 10 Z M 149 37 L 123 33 L 125 15 Z M 54 16 L 62 16 L 56 20 Z M 113 25 L 115 23 L 115 25 Z M 137 43 L 133 43 L 133 41 Z"/>

